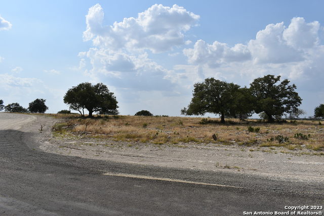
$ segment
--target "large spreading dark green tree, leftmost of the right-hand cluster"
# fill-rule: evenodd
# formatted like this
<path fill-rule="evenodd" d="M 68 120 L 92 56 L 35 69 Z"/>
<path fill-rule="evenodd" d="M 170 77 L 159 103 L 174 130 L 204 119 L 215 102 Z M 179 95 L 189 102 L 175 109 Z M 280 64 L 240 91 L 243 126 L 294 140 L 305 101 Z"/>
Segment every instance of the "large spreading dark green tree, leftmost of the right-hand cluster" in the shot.
<path fill-rule="evenodd" d="M 205 79 L 194 84 L 192 99 L 188 107 L 181 110 L 182 115 L 219 114 L 221 123 L 225 123 L 225 115 L 231 116 L 236 110 L 234 97 L 239 85 L 227 83 L 214 78 Z"/>

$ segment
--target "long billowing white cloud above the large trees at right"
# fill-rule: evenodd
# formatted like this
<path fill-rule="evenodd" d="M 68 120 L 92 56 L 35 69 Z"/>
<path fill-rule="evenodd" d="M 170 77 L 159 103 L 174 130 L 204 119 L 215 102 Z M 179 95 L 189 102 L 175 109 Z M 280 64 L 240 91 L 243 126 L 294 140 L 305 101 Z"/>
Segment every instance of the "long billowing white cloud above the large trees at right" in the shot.
<path fill-rule="evenodd" d="M 319 29 L 317 21 L 307 23 L 304 18 L 295 17 L 288 27 L 283 22 L 267 25 L 247 45 L 229 47 L 219 41 L 208 44 L 200 39 L 193 48 L 184 49 L 183 53 L 189 64 L 210 68 L 229 67 L 235 62 L 251 62 L 251 67 L 263 64 L 264 68 L 277 69 L 289 66 L 289 76 L 297 78 L 304 73 L 302 68 L 313 63 L 312 59 L 321 53 L 314 51 L 322 46 Z"/>

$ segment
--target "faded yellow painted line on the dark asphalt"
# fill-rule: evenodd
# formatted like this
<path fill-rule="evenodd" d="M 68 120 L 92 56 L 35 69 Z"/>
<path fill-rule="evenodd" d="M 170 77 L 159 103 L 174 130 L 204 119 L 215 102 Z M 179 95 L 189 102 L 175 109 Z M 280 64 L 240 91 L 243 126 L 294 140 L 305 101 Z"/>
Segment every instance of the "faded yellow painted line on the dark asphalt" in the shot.
<path fill-rule="evenodd" d="M 134 174 L 126 174 L 126 173 L 104 173 L 105 176 L 120 176 L 127 178 L 136 178 L 136 179 L 150 179 L 150 180 L 159 180 L 159 181 L 167 181 L 167 182 L 180 182 L 180 183 L 188 183 L 188 184 L 196 184 L 196 185 L 209 185 L 209 186 L 218 186 L 218 187 L 230 187 L 230 188 L 242 188 L 231 185 L 219 185 L 219 184 L 210 184 L 205 182 L 192 182 L 181 179 L 170 179 L 170 178 L 158 178 L 152 176 L 142 176 L 142 175 L 134 175 Z"/>

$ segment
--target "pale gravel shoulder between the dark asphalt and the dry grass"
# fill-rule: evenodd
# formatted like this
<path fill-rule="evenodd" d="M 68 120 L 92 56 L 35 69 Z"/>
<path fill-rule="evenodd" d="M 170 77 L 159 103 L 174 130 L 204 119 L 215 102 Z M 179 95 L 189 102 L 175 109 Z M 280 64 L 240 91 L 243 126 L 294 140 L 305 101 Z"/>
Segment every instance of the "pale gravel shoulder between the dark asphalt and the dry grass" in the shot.
<path fill-rule="evenodd" d="M 33 133 L 39 146 L 56 154 L 110 160 L 116 162 L 186 168 L 214 172 L 236 172 L 289 181 L 324 182 L 324 156 L 312 150 L 288 150 L 276 147 L 179 143 L 117 142 L 96 138 L 58 138 L 51 132 L 59 120 L 37 116 L 20 130 Z M 43 131 L 39 131 L 43 127 Z"/>

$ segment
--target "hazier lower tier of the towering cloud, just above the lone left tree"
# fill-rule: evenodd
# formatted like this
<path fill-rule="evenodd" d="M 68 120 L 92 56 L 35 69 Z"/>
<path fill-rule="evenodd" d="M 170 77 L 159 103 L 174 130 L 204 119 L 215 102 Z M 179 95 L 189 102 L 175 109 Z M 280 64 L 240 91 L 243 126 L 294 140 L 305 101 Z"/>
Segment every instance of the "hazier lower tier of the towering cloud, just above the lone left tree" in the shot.
<path fill-rule="evenodd" d="M 87 57 L 92 69 L 87 71 L 94 82 L 105 81 L 109 85 L 133 90 L 170 90 L 166 78 L 168 70 L 148 59 L 146 52 L 139 56 L 108 49 L 91 48 Z"/>

